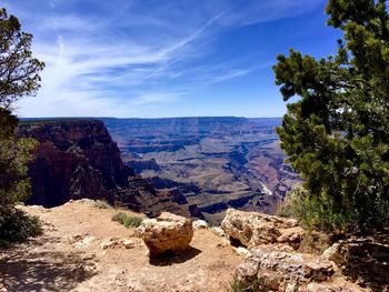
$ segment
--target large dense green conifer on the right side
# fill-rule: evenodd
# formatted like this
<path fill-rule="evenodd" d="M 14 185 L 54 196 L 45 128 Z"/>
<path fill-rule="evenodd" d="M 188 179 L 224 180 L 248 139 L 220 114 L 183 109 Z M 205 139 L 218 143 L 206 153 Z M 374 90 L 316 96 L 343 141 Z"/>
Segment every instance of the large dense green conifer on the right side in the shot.
<path fill-rule="evenodd" d="M 389 16 L 385 0 L 330 0 L 328 24 L 343 31 L 320 60 L 278 56 L 276 83 L 289 103 L 278 128 L 305 179 L 305 210 L 328 229 L 389 225 Z M 307 204 L 307 202 L 309 202 Z M 339 220 L 333 220 L 336 214 Z"/>

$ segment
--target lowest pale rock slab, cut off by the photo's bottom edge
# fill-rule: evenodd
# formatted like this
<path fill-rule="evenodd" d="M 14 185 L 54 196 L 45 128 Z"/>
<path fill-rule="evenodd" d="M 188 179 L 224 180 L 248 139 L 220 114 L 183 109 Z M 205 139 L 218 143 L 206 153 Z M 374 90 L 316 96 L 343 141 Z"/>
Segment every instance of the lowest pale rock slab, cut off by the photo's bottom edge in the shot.
<path fill-rule="evenodd" d="M 362 292 L 357 284 L 335 274 L 333 263 L 318 255 L 262 245 L 251 250 L 236 276 L 248 291 Z M 245 291 L 245 290 L 243 290 Z"/>

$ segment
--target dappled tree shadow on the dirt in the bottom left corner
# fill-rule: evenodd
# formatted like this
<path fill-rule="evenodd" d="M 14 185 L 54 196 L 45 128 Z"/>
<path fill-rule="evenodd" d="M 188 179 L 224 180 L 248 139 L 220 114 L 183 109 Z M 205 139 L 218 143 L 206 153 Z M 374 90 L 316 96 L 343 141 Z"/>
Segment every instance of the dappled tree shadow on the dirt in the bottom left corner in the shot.
<path fill-rule="evenodd" d="M 97 273 L 92 258 L 37 250 L 34 244 L 0 250 L 1 291 L 69 291 Z"/>

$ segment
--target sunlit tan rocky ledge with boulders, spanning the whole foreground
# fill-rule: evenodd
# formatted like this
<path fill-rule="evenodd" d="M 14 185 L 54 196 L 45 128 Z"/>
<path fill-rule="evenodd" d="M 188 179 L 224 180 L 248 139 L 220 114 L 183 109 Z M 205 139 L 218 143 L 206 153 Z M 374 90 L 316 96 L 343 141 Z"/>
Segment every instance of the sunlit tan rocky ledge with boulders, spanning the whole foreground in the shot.
<path fill-rule="evenodd" d="M 303 251 L 311 234 L 296 221 L 261 213 L 229 210 L 225 230 L 163 213 L 143 221 L 142 240 L 140 230 L 112 221 L 119 210 L 92 200 L 19 208 L 38 215 L 44 232 L 0 250 L 0 291 L 389 291 L 387 234 L 352 236 L 313 254 Z M 297 230 L 298 248 L 280 240 Z M 150 256 L 149 241 L 180 252 Z"/>

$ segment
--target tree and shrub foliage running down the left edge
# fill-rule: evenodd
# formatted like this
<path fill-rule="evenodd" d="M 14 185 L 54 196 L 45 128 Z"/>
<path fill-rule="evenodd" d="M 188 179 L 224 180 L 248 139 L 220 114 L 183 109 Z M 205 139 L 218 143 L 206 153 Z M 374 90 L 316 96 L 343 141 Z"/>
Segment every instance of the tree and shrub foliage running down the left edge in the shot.
<path fill-rule="evenodd" d="M 21 31 L 18 19 L 0 9 L 0 245 L 36 234 L 37 220 L 30 220 L 13 204 L 30 194 L 27 163 L 37 145 L 32 139 L 17 139 L 14 102 L 39 89 L 44 63 L 32 58 L 32 36 Z"/>

